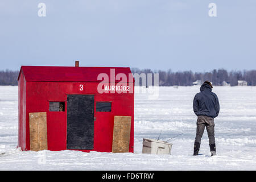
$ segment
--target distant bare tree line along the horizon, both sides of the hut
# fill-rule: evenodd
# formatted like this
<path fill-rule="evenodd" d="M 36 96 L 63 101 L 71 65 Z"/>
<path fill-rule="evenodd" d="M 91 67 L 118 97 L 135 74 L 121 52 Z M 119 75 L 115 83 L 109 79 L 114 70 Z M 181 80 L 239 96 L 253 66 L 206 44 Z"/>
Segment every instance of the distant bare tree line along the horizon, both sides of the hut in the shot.
<path fill-rule="evenodd" d="M 131 68 L 132 73 L 159 73 L 159 86 L 191 86 L 196 80 L 204 82 L 208 80 L 213 85 L 222 85 L 223 81 L 229 82 L 231 86 L 238 85 L 238 80 L 247 81 L 247 85 L 256 85 L 256 70 L 251 71 L 226 71 L 225 69 L 213 69 L 211 72 L 192 72 L 192 71 L 152 71 L 151 69 Z M 0 71 L 0 85 L 18 85 L 19 71 Z M 153 85 L 154 85 L 154 74 Z"/>

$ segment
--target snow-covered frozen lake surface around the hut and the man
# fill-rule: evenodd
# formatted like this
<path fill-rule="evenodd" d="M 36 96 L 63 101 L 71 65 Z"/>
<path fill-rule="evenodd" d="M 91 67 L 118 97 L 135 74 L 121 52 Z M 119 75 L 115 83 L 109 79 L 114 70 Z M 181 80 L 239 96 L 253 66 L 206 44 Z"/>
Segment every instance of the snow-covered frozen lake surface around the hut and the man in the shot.
<path fill-rule="evenodd" d="M 199 86 L 160 87 L 159 97 L 135 94 L 134 154 L 19 151 L 18 87 L 0 86 L 0 170 L 256 170 L 256 87 L 214 86 L 220 100 L 215 119 L 217 156 L 209 157 L 207 131 L 192 156 Z M 170 140 L 172 155 L 142 154 L 142 138 Z M 1 154 L 3 153 L 3 154 Z"/>

